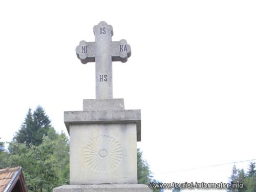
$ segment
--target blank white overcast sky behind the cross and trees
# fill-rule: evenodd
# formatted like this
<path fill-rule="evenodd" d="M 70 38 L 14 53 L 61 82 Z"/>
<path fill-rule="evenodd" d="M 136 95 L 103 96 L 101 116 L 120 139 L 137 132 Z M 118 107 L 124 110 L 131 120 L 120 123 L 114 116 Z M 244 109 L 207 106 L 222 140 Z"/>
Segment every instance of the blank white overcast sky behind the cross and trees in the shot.
<path fill-rule="evenodd" d="M 67 133 L 63 111 L 95 98 L 95 63 L 82 65 L 75 48 L 104 20 L 132 48 L 113 62 L 113 95 L 141 109 L 137 144 L 155 179 L 227 182 L 233 164 L 166 172 L 256 158 L 255 10 L 234 0 L 1 1 L 1 140 L 37 105 Z"/>

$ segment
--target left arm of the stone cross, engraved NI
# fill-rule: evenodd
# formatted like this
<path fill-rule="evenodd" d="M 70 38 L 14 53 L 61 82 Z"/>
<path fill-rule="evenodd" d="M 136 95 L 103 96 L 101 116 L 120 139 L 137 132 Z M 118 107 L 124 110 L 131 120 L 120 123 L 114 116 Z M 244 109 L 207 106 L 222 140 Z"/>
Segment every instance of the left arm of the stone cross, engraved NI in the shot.
<path fill-rule="evenodd" d="M 81 63 L 95 62 L 95 47 L 95 42 L 80 41 L 79 46 L 76 47 L 76 55 L 81 60 Z"/>

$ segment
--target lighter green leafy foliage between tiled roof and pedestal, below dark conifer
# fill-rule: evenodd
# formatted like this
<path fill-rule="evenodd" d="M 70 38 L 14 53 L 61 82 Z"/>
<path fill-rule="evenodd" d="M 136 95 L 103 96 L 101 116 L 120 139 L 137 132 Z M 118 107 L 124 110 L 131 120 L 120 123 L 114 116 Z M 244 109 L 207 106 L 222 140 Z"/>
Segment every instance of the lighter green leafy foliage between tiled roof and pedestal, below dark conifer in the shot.
<path fill-rule="evenodd" d="M 12 154 L 9 166 L 22 166 L 30 191 L 52 191 L 54 187 L 69 182 L 69 142 L 65 134 L 56 134 L 51 140 L 44 136 L 38 146 L 10 143 Z"/>

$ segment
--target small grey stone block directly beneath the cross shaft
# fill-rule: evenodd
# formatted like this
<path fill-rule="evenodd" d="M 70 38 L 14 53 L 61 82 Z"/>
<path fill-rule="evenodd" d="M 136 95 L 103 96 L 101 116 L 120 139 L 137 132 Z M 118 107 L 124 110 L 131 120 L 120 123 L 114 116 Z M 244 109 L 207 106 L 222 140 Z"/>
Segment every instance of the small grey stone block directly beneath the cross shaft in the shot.
<path fill-rule="evenodd" d="M 83 99 L 83 111 L 124 110 L 123 99 Z"/>

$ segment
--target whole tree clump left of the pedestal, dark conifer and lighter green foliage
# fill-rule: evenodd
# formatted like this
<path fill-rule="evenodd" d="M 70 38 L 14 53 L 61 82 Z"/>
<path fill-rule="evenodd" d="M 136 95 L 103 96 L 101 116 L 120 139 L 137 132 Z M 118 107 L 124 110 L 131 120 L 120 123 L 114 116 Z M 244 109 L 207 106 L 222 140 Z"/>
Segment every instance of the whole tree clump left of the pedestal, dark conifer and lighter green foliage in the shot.
<path fill-rule="evenodd" d="M 41 106 L 33 114 L 29 109 L 8 150 L 4 167 L 22 166 L 29 191 L 50 192 L 69 183 L 69 139 L 56 133 Z"/>

